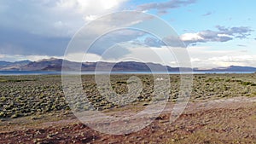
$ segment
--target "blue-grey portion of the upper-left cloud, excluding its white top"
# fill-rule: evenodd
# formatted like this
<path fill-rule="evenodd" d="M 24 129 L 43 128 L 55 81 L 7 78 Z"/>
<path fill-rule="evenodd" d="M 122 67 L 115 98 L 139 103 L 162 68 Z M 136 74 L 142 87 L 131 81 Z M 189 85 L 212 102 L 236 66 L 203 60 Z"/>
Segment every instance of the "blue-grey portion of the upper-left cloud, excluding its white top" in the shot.
<path fill-rule="evenodd" d="M 61 12 L 55 3 L 0 1 L 4 8 L 0 10 L 0 54 L 64 55 L 68 42 L 84 21 L 79 14 Z"/>

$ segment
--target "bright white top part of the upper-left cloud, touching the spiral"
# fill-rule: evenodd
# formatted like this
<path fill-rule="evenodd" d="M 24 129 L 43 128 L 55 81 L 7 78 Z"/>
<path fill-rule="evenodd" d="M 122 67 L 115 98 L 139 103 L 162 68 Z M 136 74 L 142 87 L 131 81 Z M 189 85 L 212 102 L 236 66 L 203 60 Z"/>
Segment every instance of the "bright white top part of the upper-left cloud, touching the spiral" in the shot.
<path fill-rule="evenodd" d="M 68 29 L 75 29 L 77 31 L 81 26 L 84 26 L 84 22 L 90 22 L 91 20 L 96 20 L 96 18 L 103 14 L 115 12 L 120 9 L 122 4 L 126 1 L 127 0 L 59 0 L 56 2 L 53 10 L 55 13 L 60 13 L 61 18 L 67 21 L 66 29 L 63 27 L 62 30 L 67 31 Z"/>

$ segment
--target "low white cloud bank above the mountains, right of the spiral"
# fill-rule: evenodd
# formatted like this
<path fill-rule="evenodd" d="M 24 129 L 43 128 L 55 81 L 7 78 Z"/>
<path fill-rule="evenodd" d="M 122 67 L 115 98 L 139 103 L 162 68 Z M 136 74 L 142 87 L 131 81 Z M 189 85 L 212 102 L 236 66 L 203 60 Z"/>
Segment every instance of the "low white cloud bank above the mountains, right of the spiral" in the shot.
<path fill-rule="evenodd" d="M 256 55 L 249 51 L 211 50 L 207 47 L 189 47 L 189 55 L 194 67 L 212 68 L 218 66 L 255 66 Z"/>

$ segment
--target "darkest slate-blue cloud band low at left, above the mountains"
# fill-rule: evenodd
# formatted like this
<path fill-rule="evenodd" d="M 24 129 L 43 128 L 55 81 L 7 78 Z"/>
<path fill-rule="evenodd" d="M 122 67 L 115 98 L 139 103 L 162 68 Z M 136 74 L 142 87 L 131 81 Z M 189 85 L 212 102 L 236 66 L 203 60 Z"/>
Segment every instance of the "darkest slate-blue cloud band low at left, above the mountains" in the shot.
<path fill-rule="evenodd" d="M 0 53 L 4 55 L 63 55 L 68 37 L 43 37 L 15 29 L 0 29 Z"/>

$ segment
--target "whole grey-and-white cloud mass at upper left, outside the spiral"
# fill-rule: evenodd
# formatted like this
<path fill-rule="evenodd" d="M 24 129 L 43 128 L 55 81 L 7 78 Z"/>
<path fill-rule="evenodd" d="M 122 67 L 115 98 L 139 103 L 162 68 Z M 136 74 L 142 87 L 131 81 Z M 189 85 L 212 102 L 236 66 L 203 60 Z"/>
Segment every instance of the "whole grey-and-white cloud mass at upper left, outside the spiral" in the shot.
<path fill-rule="evenodd" d="M 64 55 L 86 22 L 121 7 L 126 0 L 0 1 L 0 53 Z"/>

